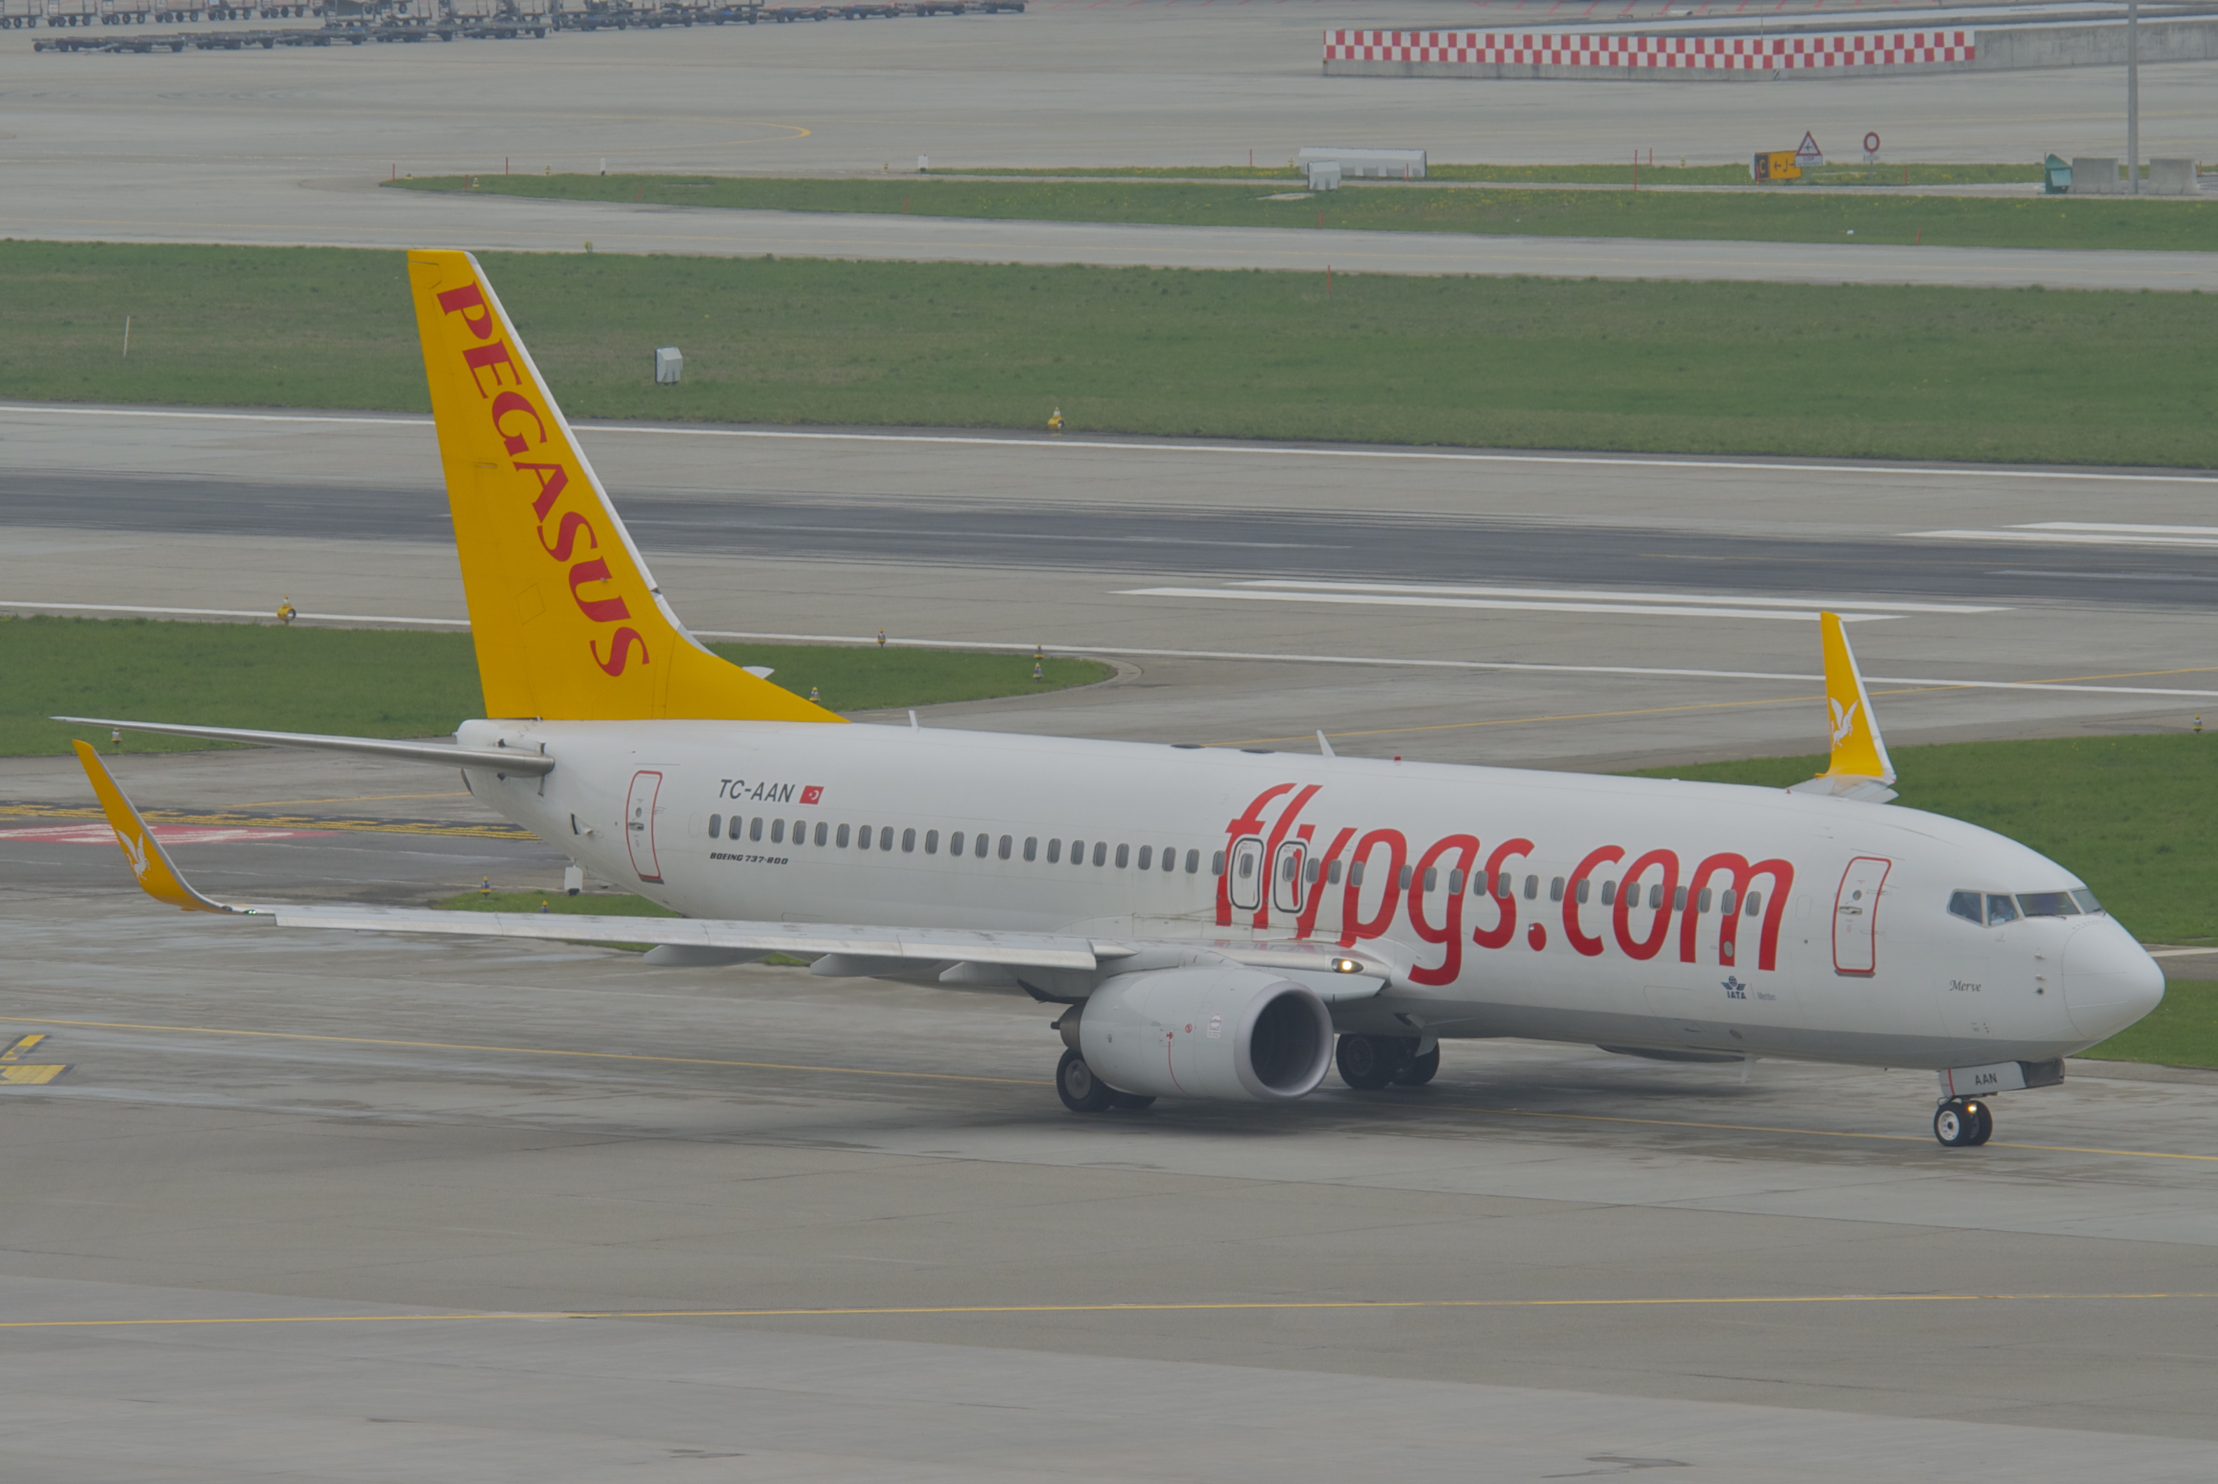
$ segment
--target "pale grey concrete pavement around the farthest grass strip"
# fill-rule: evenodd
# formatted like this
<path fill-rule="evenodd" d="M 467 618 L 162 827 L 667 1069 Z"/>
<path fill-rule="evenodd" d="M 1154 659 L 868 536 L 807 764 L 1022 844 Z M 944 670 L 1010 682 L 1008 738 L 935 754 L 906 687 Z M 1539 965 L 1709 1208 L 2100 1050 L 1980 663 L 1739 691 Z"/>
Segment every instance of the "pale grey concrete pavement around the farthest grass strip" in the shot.
<path fill-rule="evenodd" d="M 1329 4 L 1034 4 L 898 24 L 579 33 L 284 53 L 33 55 L 0 40 L 0 235 L 106 242 L 781 253 L 1344 273 L 2214 288 L 2202 253 L 2007 253 L 728 213 L 381 191 L 395 173 L 1278 164 L 1371 140 L 1433 160 L 2123 151 L 2116 69 L 1777 87 L 1322 78 Z M 1413 0 L 1406 24 L 1533 24 Z M 2218 64 L 2143 69 L 2147 155 L 2218 138 Z M 1792 138 L 1788 138 L 1792 135 Z M 2147 202 L 2149 211 L 2167 209 Z"/>

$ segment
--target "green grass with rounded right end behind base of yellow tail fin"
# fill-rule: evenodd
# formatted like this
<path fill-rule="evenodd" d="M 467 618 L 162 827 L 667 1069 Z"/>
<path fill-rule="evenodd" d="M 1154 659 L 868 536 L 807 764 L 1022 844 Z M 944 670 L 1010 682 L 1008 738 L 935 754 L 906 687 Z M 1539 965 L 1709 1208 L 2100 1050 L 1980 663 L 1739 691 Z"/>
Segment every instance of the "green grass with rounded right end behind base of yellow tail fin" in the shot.
<path fill-rule="evenodd" d="M 794 694 L 823 690 L 838 712 L 983 701 L 1089 685 L 1111 674 L 1091 659 L 841 646 L 710 646 L 741 665 L 772 665 Z M 153 623 L 146 619 L 0 619 L 0 756 L 67 752 L 69 739 L 106 745 L 98 728 L 53 714 L 182 721 L 271 732 L 444 736 L 484 714 L 466 634 L 275 623 Z M 186 752 L 211 743 L 129 732 L 129 752 Z"/>

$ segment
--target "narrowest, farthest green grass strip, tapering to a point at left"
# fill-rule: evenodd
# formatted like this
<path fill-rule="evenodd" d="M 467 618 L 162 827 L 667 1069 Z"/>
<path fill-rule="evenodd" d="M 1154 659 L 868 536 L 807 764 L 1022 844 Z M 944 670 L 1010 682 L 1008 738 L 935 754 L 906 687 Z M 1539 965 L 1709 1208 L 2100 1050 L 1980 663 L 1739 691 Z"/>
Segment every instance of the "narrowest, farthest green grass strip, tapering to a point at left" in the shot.
<path fill-rule="evenodd" d="M 1624 166 L 1630 175 L 1630 164 Z M 1841 184 L 1861 171 L 1837 171 Z M 475 182 L 475 184 L 472 184 Z M 2211 251 L 2218 202 L 2123 197 L 1828 195 L 1768 191 L 1457 191 L 1360 186 L 1298 200 L 1253 184 L 1176 180 L 763 180 L 732 175 L 437 175 L 404 191 L 752 211 L 869 211 L 1034 222 L 1156 222 L 1672 237 L 1723 242 Z M 1746 184 L 1746 182 L 1743 182 Z"/>

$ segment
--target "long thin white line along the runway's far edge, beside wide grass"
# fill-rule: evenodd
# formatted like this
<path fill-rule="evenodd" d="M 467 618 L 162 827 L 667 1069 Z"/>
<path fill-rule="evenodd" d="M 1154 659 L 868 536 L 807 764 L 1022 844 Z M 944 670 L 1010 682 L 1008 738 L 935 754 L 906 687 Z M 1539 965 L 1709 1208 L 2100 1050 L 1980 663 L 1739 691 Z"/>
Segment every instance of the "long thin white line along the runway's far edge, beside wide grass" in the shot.
<path fill-rule="evenodd" d="M 393 428 L 428 428 L 428 417 L 379 417 L 337 413 L 186 413 L 169 408 L 69 408 L 49 404 L 0 402 L 0 415 L 40 417 L 177 417 L 195 421 L 302 421 L 302 424 L 368 424 Z M 1444 448 L 1304 448 L 1300 444 L 1147 444 L 1133 439 L 1082 437 L 989 437 L 976 433 L 790 433 L 783 428 L 674 428 L 663 424 L 570 424 L 577 433 L 648 433 L 663 437 L 756 437 L 816 444 L 958 444 L 978 448 L 1102 448 L 1113 453 L 1213 453 L 1275 459 L 1413 459 L 1422 464 L 1566 464 L 1599 468 L 1719 468 L 1774 475 L 1865 475 L 1874 479 L 2076 479 L 2092 484 L 2209 484 L 2218 475 L 2098 475 L 2049 468 L 1947 468 L 1912 464 L 1777 464 L 1759 459 L 1672 459 L 1617 457 L 1593 453 L 1482 453 Z M 1945 532 L 1912 532 L 1945 535 Z"/>

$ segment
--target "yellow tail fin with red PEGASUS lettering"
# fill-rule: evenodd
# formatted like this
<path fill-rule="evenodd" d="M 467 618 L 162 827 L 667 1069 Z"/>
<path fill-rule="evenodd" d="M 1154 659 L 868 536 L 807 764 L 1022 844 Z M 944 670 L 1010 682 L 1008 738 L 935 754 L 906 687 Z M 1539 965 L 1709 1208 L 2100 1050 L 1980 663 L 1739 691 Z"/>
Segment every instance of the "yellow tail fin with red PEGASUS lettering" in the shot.
<path fill-rule="evenodd" d="M 676 621 L 477 260 L 410 253 L 488 716 L 841 721 Z"/>

